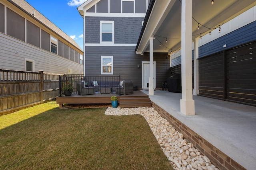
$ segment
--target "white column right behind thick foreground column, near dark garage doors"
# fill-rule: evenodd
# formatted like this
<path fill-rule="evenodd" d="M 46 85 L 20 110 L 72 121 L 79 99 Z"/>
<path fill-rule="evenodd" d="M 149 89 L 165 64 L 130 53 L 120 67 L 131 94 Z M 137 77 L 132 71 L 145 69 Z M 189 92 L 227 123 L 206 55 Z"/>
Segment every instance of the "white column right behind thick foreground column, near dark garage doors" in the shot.
<path fill-rule="evenodd" d="M 199 85 L 198 85 L 198 80 L 199 80 L 199 73 L 198 73 L 198 40 L 199 38 L 196 38 L 194 40 L 194 90 L 193 90 L 193 95 L 198 95 L 199 94 Z"/>

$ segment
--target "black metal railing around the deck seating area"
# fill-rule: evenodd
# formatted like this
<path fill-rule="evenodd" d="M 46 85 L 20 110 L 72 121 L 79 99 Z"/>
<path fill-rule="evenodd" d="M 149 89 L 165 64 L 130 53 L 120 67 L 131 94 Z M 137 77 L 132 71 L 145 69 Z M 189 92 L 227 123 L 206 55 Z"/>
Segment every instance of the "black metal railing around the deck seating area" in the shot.
<path fill-rule="evenodd" d="M 90 88 L 94 88 L 93 94 L 114 94 L 116 93 L 116 88 L 120 88 L 120 81 L 121 76 L 83 76 L 83 75 L 63 75 L 60 76 L 60 96 L 64 94 L 63 87 L 67 86 L 67 84 L 71 84 L 73 88 L 72 94 L 79 94 L 83 88 L 84 91 L 88 89 L 88 92 L 91 93 L 89 90 Z M 120 90 L 119 90 L 120 92 Z"/>

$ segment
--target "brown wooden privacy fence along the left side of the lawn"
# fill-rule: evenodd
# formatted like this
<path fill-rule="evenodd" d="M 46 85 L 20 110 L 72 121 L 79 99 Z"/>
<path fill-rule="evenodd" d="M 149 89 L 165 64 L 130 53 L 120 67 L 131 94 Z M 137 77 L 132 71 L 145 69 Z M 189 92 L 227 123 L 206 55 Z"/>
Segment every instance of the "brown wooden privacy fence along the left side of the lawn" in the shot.
<path fill-rule="evenodd" d="M 61 75 L 0 69 L 0 115 L 56 98 Z"/>

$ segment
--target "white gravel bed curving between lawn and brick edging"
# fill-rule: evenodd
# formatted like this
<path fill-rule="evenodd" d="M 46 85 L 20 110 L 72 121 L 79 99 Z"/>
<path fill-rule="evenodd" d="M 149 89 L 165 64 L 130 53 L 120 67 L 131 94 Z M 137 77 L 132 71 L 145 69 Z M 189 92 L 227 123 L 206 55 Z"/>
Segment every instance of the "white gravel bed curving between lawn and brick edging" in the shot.
<path fill-rule="evenodd" d="M 184 139 L 183 134 L 174 129 L 153 107 L 112 108 L 108 107 L 106 115 L 142 115 L 164 154 L 170 160 L 174 170 L 218 170 L 209 158 L 202 155 L 192 143 Z"/>

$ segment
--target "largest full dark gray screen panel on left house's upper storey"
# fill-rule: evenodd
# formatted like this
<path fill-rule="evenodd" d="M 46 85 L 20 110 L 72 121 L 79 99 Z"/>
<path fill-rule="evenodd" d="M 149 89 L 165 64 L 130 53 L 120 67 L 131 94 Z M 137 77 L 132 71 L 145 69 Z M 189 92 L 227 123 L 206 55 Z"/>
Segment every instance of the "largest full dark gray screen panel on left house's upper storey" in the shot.
<path fill-rule="evenodd" d="M 7 35 L 25 41 L 25 18 L 6 8 Z"/>

